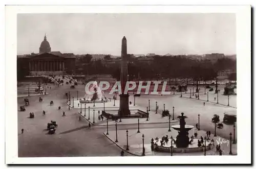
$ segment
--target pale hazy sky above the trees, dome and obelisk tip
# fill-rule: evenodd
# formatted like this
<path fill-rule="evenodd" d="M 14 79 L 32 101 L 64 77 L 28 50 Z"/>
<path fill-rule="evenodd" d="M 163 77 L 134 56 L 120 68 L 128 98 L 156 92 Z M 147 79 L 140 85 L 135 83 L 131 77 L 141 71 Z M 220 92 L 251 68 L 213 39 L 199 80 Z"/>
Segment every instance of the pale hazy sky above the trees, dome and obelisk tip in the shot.
<path fill-rule="evenodd" d="M 236 54 L 235 14 L 18 14 L 18 54 Z"/>

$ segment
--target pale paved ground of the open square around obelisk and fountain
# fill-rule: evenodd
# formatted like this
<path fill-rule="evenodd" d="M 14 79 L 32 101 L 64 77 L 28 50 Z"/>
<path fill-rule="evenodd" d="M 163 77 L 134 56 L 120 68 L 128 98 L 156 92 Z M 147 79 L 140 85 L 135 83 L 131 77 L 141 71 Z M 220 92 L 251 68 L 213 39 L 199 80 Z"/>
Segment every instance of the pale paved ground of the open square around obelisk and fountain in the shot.
<path fill-rule="evenodd" d="M 75 86 L 75 89 L 71 89 L 70 85 L 66 84 L 67 80 L 64 80 L 64 85 L 60 86 L 51 86 L 47 90 L 48 95 L 41 95 L 43 99 L 42 102 L 39 102 L 40 95 L 33 95 L 27 97 L 17 98 L 18 102 L 18 156 L 19 157 L 48 157 L 48 156 L 120 156 L 121 149 L 116 146 L 116 144 L 111 141 L 115 139 L 115 122 L 109 120 L 109 138 L 106 137 L 103 133 L 106 132 L 106 119 L 98 120 L 98 111 L 102 109 L 102 105 L 94 107 L 95 109 L 95 125 L 92 125 L 91 129 L 88 128 L 89 123 L 93 123 L 93 108 L 90 109 L 90 120 L 89 110 L 86 109 L 86 116 L 84 116 L 84 107 L 82 107 L 82 113 L 80 114 L 80 107 L 78 104 L 74 104 L 69 110 L 69 105 L 66 103 L 67 97 L 66 92 L 71 93 L 71 96 L 74 96 L 75 101 L 77 101 L 77 91 L 78 97 L 83 96 L 84 86 L 78 85 Z M 202 93 L 202 94 L 201 94 Z M 150 148 L 150 139 L 156 136 L 161 137 L 162 135 L 173 135 L 176 136 L 177 133 L 168 134 L 168 117 L 161 118 L 161 112 L 165 108 L 169 110 L 171 115 L 170 125 L 177 125 L 178 119 L 177 116 L 184 112 L 188 117 L 186 118 L 187 125 L 195 126 L 198 123 L 198 114 L 200 114 L 200 128 L 202 135 L 205 135 L 205 131 L 210 130 L 213 136 L 214 133 L 214 124 L 211 123 L 211 118 L 214 114 L 220 116 L 222 121 L 224 117 L 224 112 L 237 112 L 236 96 L 230 96 L 229 104 L 233 107 L 224 106 L 224 103 L 227 103 L 227 96 L 219 95 L 219 103 L 208 103 L 203 101 L 205 100 L 205 95 L 203 94 L 202 89 L 200 90 L 200 100 L 189 99 L 190 93 L 182 93 L 183 96 L 180 98 L 180 94 L 176 93 L 175 95 L 141 95 L 136 98 L 136 106 L 131 105 L 131 111 L 135 109 L 140 109 L 146 111 L 148 107 L 148 100 L 150 100 L 150 116 L 148 121 L 146 118 L 140 118 L 140 132 L 137 134 L 138 128 L 138 119 L 122 119 L 122 122 L 117 122 L 118 124 L 118 141 L 119 146 L 125 146 L 126 129 L 129 130 L 129 145 L 131 146 L 130 150 L 133 154 L 140 155 L 142 152 L 141 145 L 141 135 L 145 135 L 145 148 L 146 155 L 167 155 L 166 153 L 157 153 L 152 152 Z M 209 94 L 210 95 L 210 94 Z M 214 97 L 214 93 L 211 93 Z M 113 98 L 113 95 L 106 93 L 107 98 Z M 26 111 L 19 111 L 19 106 L 24 105 L 24 99 L 28 98 L 30 105 L 26 106 Z M 71 97 L 72 98 L 72 97 Z M 209 97 L 210 98 L 210 97 Z M 116 107 L 112 108 L 111 106 L 105 107 L 106 111 L 116 112 L 118 110 L 119 96 L 117 96 Z M 130 100 L 133 103 L 133 96 L 131 94 Z M 206 98 L 207 100 L 207 98 Z M 209 99 L 210 100 L 210 99 Z M 53 106 L 50 106 L 50 101 L 54 102 Z M 159 106 L 159 110 L 156 113 L 156 102 Z M 101 103 L 100 103 L 101 104 Z M 109 104 L 113 104 L 110 102 Z M 165 104 L 165 107 L 164 107 Z M 58 106 L 61 106 L 61 110 L 58 110 Z M 81 105 L 79 105 L 81 106 Z M 84 106 L 84 105 L 83 105 Z M 113 106 L 114 107 L 114 106 Z M 174 119 L 173 118 L 173 107 L 174 107 Z M 42 115 L 42 111 L 46 111 L 46 115 Z M 63 111 L 66 116 L 62 116 Z M 34 112 L 35 118 L 28 118 L 29 112 Z M 81 116 L 81 120 L 79 120 Z M 56 133 L 53 135 L 47 134 L 47 123 L 50 123 L 51 120 L 55 120 L 58 127 L 56 128 Z M 21 130 L 24 129 L 24 133 L 21 133 Z M 194 132 L 196 129 L 191 130 Z M 173 132 L 173 129 L 172 129 Z M 224 124 L 223 129 L 217 128 L 217 139 L 219 137 L 224 139 L 229 139 L 229 133 L 233 134 L 233 126 L 228 126 Z M 232 137 L 233 138 L 233 137 Z M 141 140 L 141 141 L 140 141 Z M 115 141 L 115 140 L 114 140 Z M 148 149 L 149 145 L 149 149 Z M 232 144 L 233 154 L 236 154 L 236 145 Z M 225 147 L 225 146 L 224 146 Z M 209 155 L 214 152 L 207 152 Z M 132 156 L 133 154 L 125 153 L 125 155 Z M 225 149 L 225 155 L 226 149 Z M 186 155 L 186 153 L 178 153 L 174 155 Z M 190 155 L 190 154 L 189 154 Z M 191 155 L 203 155 L 203 153 L 194 153 Z"/>

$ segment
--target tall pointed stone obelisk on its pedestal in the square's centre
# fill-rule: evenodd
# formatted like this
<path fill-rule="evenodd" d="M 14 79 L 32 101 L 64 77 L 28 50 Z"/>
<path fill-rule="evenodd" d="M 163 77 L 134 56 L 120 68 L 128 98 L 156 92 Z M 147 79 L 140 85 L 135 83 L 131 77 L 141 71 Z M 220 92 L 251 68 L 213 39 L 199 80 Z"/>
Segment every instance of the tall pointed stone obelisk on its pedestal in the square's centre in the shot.
<path fill-rule="evenodd" d="M 120 80 L 121 80 L 121 94 L 120 96 L 120 107 L 118 110 L 119 116 L 125 116 L 130 115 L 129 110 L 129 94 L 124 94 L 124 89 L 127 81 L 127 43 L 125 36 L 122 39 L 122 49 L 121 49 L 121 64 L 120 64 L 121 74 L 120 74 Z"/>

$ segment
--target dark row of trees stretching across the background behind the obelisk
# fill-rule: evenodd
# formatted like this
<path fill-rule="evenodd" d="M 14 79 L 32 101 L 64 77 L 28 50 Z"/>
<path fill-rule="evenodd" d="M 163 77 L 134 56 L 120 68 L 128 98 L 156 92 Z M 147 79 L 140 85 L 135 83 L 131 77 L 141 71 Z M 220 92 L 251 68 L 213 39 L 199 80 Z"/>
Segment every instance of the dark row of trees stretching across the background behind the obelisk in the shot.
<path fill-rule="evenodd" d="M 110 55 L 104 57 L 105 61 L 111 60 Z M 236 60 L 221 58 L 216 63 L 209 60 L 193 60 L 187 57 L 154 56 L 149 62 L 138 60 L 128 55 L 128 74 L 130 79 L 161 79 L 161 78 L 191 78 L 212 80 L 217 77 L 218 71 L 236 69 Z M 85 75 L 111 74 L 120 78 L 120 63 L 106 66 L 102 60 L 92 61 L 91 55 L 77 59 L 77 73 Z M 230 78 L 236 80 L 236 75 Z"/>

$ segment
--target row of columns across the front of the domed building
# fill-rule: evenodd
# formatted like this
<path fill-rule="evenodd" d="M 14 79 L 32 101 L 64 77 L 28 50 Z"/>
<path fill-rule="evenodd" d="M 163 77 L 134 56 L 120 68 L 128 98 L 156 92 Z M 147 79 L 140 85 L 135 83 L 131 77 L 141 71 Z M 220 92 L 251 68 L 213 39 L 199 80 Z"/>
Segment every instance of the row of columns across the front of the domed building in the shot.
<path fill-rule="evenodd" d="M 65 61 L 63 60 L 31 60 L 29 71 L 64 71 Z"/>

